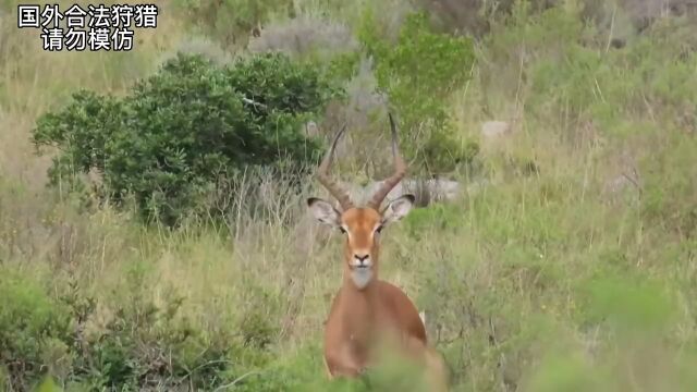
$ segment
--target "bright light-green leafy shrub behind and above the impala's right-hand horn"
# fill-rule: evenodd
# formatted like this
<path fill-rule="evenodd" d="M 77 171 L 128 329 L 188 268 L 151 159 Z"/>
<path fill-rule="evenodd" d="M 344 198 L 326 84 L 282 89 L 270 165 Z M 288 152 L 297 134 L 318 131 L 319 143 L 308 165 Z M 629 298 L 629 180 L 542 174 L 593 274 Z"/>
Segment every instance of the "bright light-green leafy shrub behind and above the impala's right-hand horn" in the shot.
<path fill-rule="evenodd" d="M 376 23 L 368 13 L 359 37 L 376 59 L 378 86 L 400 113 L 403 137 L 411 142 L 404 143 L 405 156 L 430 173 L 470 160 L 477 149 L 454 139 L 447 100 L 469 78 L 473 42 L 435 33 L 424 12 L 406 17 L 396 42 L 379 37 Z"/>

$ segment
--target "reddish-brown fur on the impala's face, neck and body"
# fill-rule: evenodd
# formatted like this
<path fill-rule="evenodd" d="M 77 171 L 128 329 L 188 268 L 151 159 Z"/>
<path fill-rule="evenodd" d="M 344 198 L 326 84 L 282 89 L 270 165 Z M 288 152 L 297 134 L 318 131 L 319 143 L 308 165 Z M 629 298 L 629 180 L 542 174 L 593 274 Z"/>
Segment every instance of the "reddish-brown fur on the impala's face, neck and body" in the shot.
<path fill-rule="evenodd" d="M 325 330 L 325 365 L 330 377 L 356 377 L 375 360 L 380 343 L 398 348 L 427 366 L 435 390 L 447 390 L 442 362 L 428 347 L 426 328 L 412 301 L 391 283 L 379 280 L 379 233 L 382 216 L 370 208 L 351 208 L 341 216 L 347 230 L 343 252 L 343 284 L 334 297 Z M 358 289 L 352 281 L 354 254 L 369 254 L 372 279 Z"/>

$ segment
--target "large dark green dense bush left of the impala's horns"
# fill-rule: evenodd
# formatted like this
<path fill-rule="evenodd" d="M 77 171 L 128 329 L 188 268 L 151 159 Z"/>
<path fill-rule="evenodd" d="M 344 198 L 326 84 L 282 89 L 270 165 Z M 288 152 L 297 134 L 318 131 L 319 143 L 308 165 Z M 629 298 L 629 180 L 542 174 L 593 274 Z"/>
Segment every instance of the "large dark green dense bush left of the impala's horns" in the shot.
<path fill-rule="evenodd" d="M 180 53 L 123 99 L 75 94 L 38 119 L 34 140 L 61 151 L 53 184 L 96 170 L 102 196 L 123 204 L 132 195 L 144 218 L 171 225 L 209 212 L 209 192 L 245 167 L 303 170 L 319 148 L 301 124 L 338 93 L 316 68 L 280 53 L 231 66 Z"/>

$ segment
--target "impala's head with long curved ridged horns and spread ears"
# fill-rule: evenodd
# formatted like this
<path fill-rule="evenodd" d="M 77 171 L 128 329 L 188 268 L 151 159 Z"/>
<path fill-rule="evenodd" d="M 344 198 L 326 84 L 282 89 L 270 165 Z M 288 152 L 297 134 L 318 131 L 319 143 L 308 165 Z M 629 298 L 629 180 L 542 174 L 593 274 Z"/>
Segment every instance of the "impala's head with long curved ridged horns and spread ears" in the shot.
<path fill-rule="evenodd" d="M 307 206 L 313 216 L 323 224 L 339 229 L 345 235 L 344 242 L 344 277 L 351 280 L 358 290 L 365 289 L 377 277 L 380 250 L 380 233 L 388 224 L 404 218 L 414 206 L 414 195 L 403 195 L 380 208 L 383 199 L 406 174 L 406 164 L 398 148 L 396 126 L 392 115 L 390 127 L 392 133 L 392 156 L 394 173 L 384 180 L 375 192 L 366 207 L 355 207 L 348 192 L 329 176 L 329 167 L 333 160 L 337 143 L 346 127 L 342 127 L 325 156 L 317 177 L 319 182 L 337 198 L 341 211 L 329 201 L 310 197 Z"/>

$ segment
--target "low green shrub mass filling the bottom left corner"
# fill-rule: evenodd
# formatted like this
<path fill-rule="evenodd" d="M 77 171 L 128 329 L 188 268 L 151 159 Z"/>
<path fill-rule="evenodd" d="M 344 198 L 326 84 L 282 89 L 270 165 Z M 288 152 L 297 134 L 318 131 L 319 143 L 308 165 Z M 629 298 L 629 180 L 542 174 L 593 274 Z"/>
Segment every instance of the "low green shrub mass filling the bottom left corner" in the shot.
<path fill-rule="evenodd" d="M 53 289 L 62 294 L 53 297 L 2 268 L 0 295 L 12 301 L 0 307 L 1 385 L 24 391 L 54 379 L 69 391 L 211 390 L 269 360 L 266 348 L 245 343 L 246 320 L 231 330 L 196 323 L 182 314 L 176 292 L 155 303 L 144 264 L 127 267 L 123 290 L 99 304 L 107 310 L 99 315 L 97 301 L 77 284 L 57 280 Z"/>

